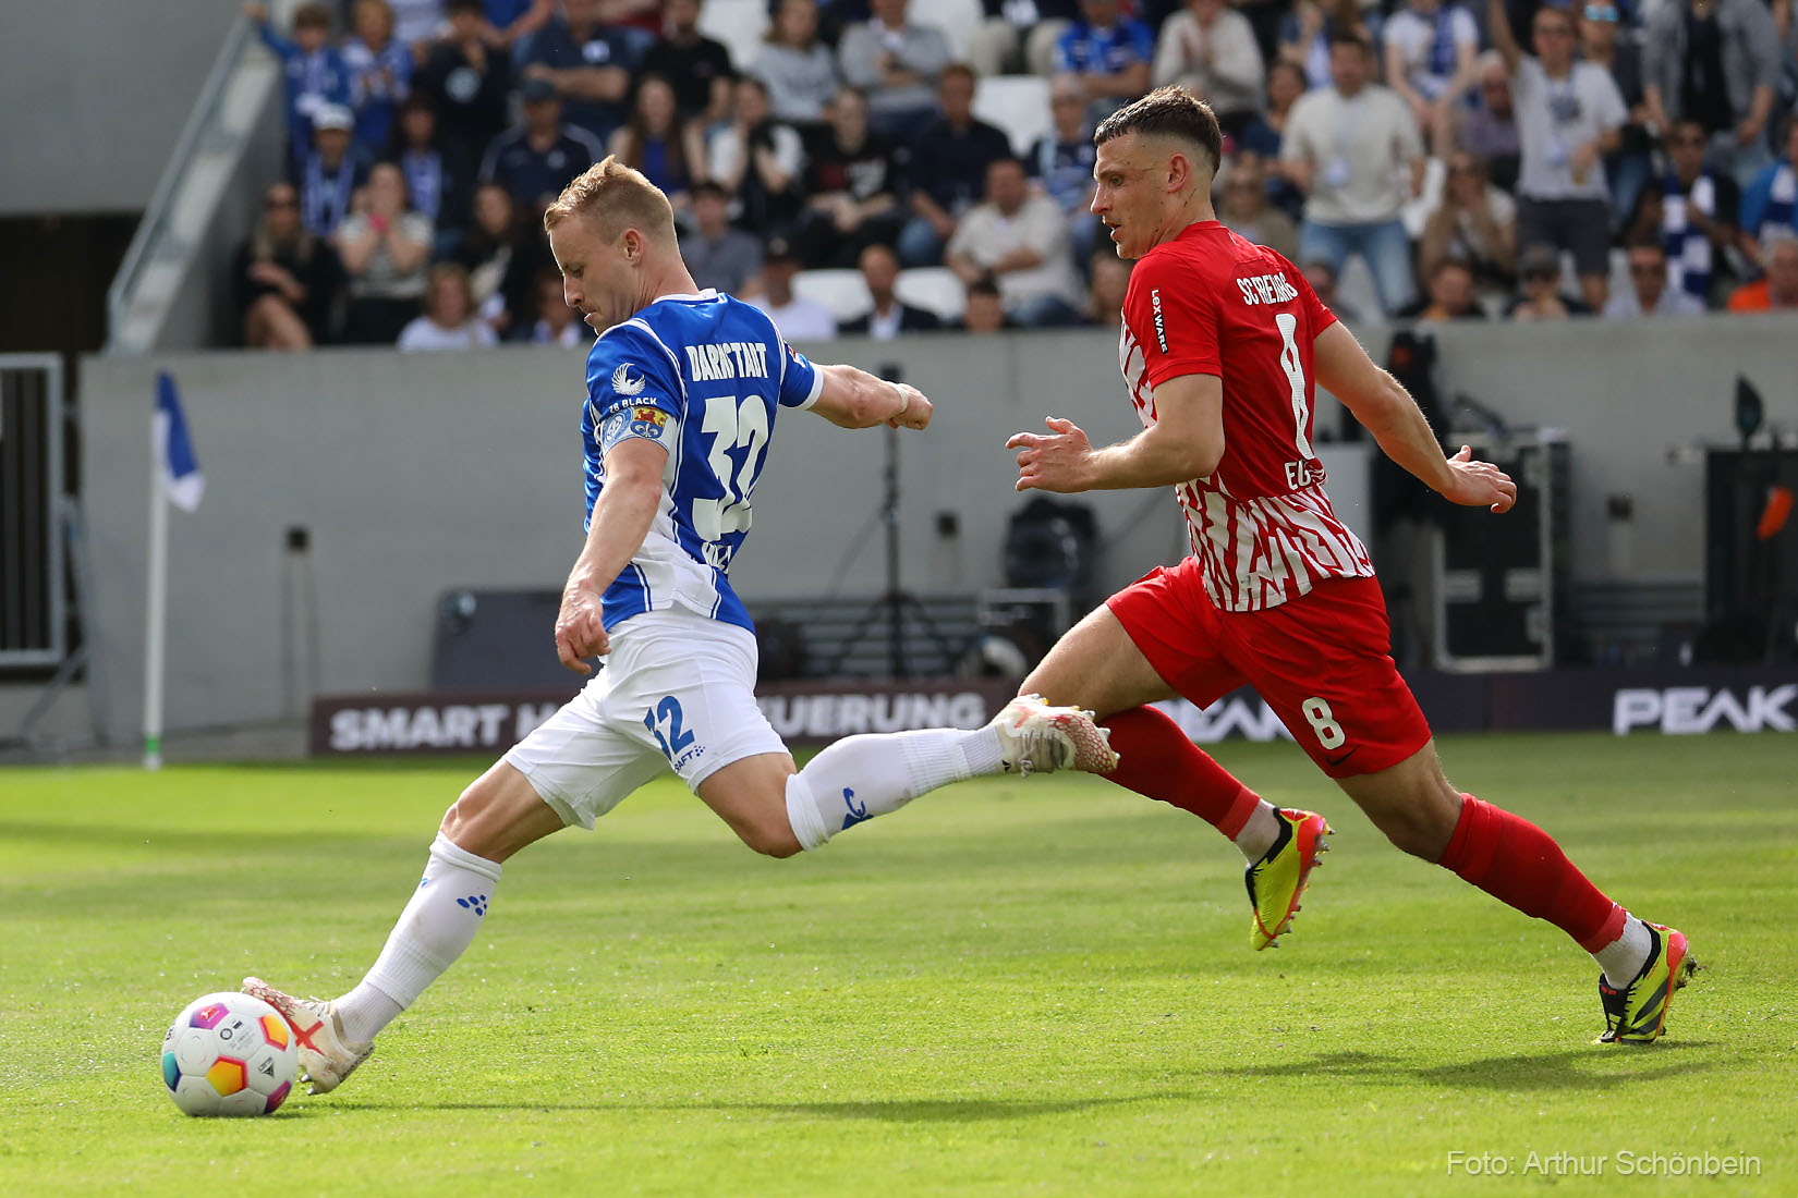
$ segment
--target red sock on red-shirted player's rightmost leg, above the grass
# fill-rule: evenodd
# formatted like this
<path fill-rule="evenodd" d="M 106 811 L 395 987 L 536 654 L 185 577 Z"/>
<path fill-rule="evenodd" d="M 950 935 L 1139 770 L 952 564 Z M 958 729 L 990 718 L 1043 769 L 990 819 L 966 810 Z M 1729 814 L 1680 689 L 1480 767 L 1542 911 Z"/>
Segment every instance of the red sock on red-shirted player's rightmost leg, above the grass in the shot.
<path fill-rule="evenodd" d="M 1527 916 L 1548 920 L 1597 952 L 1624 934 L 1625 911 L 1586 880 L 1553 837 L 1471 794 L 1438 862 Z"/>

